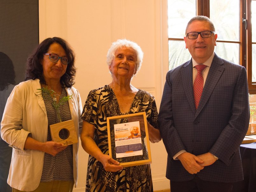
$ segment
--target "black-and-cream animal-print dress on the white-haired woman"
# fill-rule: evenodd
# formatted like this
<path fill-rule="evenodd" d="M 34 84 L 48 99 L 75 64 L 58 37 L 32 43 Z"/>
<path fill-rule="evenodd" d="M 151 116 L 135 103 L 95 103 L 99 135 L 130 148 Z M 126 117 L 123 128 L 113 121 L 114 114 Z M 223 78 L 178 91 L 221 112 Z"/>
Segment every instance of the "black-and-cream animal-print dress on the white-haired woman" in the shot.
<path fill-rule="evenodd" d="M 152 95 L 138 90 L 125 114 L 146 112 L 148 122 L 158 128 L 156 102 Z M 84 105 L 82 119 L 95 127 L 94 141 L 108 155 L 107 117 L 125 115 L 120 112 L 116 96 L 110 86 L 105 85 L 90 91 Z M 143 137 L 143 136 L 142 136 Z M 144 147 L 144 143 L 142 143 Z M 86 177 L 86 192 L 153 192 L 150 165 L 125 167 L 117 172 L 108 172 L 101 162 L 89 156 Z"/>

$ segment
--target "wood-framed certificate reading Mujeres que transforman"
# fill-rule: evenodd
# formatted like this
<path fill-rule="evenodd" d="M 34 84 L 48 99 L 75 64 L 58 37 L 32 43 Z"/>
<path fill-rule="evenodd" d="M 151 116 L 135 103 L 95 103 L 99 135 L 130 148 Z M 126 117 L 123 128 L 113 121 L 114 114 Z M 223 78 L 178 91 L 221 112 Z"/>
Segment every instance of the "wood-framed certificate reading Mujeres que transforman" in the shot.
<path fill-rule="evenodd" d="M 123 167 L 151 163 L 146 113 L 107 117 L 109 156 Z"/>

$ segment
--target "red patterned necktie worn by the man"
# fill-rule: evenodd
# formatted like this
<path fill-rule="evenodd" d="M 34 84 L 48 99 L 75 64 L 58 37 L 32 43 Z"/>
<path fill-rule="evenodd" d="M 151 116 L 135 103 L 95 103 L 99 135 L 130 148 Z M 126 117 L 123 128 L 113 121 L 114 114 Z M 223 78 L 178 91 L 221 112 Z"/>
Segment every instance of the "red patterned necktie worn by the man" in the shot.
<path fill-rule="evenodd" d="M 195 99 L 196 109 L 199 105 L 199 101 L 204 88 L 204 78 L 202 75 L 202 70 L 204 70 L 205 67 L 206 65 L 203 65 L 203 64 L 199 64 L 195 66 L 195 68 L 197 69 L 197 76 L 194 81 L 193 89 L 194 89 L 194 99 Z"/>

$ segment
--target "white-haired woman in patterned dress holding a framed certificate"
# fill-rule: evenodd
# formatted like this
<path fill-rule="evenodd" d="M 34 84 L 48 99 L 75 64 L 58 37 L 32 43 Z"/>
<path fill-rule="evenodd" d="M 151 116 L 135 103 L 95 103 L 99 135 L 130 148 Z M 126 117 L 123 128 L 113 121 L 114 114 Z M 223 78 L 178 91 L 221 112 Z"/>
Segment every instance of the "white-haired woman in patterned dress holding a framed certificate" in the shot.
<path fill-rule="evenodd" d="M 154 97 L 131 85 L 142 58 L 143 52 L 136 43 L 126 39 L 114 42 L 107 53 L 112 82 L 92 90 L 87 97 L 81 133 L 82 147 L 90 154 L 86 192 L 153 191 L 149 164 L 123 168 L 108 155 L 107 117 L 145 111 L 149 140 L 161 140 Z"/>

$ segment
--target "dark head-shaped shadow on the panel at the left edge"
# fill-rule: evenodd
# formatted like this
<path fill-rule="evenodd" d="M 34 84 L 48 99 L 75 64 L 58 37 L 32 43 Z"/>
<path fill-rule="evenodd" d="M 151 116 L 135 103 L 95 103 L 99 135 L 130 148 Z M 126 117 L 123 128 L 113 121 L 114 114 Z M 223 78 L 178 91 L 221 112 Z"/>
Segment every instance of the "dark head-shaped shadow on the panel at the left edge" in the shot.
<path fill-rule="evenodd" d="M 15 84 L 15 71 L 13 63 L 5 53 L 0 52 L 0 91 L 10 84 Z"/>

